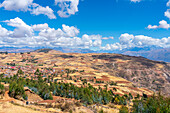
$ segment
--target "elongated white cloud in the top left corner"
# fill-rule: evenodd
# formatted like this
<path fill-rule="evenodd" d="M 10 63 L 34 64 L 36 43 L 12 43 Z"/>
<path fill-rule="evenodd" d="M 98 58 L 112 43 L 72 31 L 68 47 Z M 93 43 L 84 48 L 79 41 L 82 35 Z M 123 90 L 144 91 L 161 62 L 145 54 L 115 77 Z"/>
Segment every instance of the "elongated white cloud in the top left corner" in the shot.
<path fill-rule="evenodd" d="M 54 11 L 49 7 L 42 7 L 39 4 L 33 3 L 33 0 L 4 0 L 0 4 L 0 8 L 4 7 L 9 11 L 30 11 L 34 15 L 46 15 L 50 19 L 56 19 Z"/>

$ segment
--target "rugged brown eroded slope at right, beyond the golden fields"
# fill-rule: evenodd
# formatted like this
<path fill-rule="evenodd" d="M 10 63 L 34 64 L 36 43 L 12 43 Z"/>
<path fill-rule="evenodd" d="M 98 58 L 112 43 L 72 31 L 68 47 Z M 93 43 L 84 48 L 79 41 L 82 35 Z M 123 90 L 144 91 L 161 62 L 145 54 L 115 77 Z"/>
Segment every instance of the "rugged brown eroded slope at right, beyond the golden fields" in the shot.
<path fill-rule="evenodd" d="M 94 59 L 108 60 L 107 63 L 94 65 L 93 68 L 108 72 L 113 76 L 125 78 L 138 87 L 152 91 L 169 92 L 170 64 L 118 54 L 93 55 Z"/>

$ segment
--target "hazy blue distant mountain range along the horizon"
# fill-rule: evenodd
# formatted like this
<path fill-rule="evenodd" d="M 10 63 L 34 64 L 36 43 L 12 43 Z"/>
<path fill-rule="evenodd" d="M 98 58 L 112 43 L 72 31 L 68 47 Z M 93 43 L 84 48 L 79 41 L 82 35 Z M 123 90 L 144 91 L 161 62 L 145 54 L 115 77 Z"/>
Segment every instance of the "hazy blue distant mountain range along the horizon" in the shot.
<path fill-rule="evenodd" d="M 30 52 L 41 48 L 31 47 L 0 47 L 0 52 L 19 53 L 19 52 Z M 90 49 L 79 49 L 79 48 L 63 48 L 56 47 L 51 48 L 63 53 L 118 53 L 130 56 L 142 56 L 151 60 L 170 62 L 170 48 L 157 48 L 157 47 L 145 47 L 145 48 L 131 48 L 124 50 L 106 51 L 99 50 L 93 51 Z"/>

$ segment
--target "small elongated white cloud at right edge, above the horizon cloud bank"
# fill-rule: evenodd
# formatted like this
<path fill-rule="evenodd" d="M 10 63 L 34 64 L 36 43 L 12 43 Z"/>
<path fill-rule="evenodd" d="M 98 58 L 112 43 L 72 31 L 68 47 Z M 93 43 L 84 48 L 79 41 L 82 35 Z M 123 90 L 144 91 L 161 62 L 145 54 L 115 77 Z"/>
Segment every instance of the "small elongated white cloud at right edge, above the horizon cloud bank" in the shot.
<path fill-rule="evenodd" d="M 170 28 L 170 24 L 167 23 L 167 21 L 162 20 L 159 22 L 159 26 L 157 25 L 148 25 L 147 27 L 148 29 L 157 29 L 157 28 L 163 28 L 163 29 L 169 29 Z"/>

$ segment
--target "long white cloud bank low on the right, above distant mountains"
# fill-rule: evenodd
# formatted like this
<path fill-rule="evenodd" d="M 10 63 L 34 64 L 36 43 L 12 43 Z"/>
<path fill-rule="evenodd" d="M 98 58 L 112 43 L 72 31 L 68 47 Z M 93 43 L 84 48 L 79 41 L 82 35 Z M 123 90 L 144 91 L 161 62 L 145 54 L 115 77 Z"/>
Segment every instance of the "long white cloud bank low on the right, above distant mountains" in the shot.
<path fill-rule="evenodd" d="M 163 48 L 170 47 L 170 37 L 155 39 L 144 35 L 134 36 L 132 34 L 125 33 L 119 37 L 119 41 L 120 41 L 119 43 L 107 44 L 105 47 L 101 47 L 101 49 L 122 50 L 125 48 L 133 48 L 133 47 L 149 47 L 149 46 L 156 46 L 156 47 L 163 47 Z"/>

